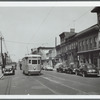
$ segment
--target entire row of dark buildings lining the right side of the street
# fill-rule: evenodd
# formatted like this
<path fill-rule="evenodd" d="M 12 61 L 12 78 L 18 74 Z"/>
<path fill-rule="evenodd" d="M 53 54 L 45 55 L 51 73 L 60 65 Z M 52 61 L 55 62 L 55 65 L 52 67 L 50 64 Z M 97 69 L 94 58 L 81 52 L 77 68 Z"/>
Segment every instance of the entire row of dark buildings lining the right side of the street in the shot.
<path fill-rule="evenodd" d="M 100 7 L 95 7 L 97 24 L 79 32 L 63 32 L 60 45 L 56 46 L 57 56 L 61 62 L 92 63 L 100 69 Z"/>

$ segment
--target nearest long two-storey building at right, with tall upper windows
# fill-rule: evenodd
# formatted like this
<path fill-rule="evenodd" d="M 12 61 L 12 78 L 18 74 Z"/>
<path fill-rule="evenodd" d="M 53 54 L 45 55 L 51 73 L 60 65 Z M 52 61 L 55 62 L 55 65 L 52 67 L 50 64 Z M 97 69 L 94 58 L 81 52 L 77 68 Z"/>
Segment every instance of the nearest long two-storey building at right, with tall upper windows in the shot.
<path fill-rule="evenodd" d="M 79 63 L 92 63 L 99 67 L 98 25 L 94 25 L 77 34 Z"/>

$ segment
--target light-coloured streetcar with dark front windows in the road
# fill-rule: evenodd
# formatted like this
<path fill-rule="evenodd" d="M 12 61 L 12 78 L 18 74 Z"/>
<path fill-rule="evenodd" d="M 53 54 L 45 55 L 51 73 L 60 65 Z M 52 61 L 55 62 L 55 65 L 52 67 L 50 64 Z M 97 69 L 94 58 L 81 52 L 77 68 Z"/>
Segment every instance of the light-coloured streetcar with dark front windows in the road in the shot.
<path fill-rule="evenodd" d="M 41 73 L 41 56 L 37 54 L 26 55 L 22 59 L 23 74 L 40 74 Z"/>

